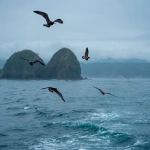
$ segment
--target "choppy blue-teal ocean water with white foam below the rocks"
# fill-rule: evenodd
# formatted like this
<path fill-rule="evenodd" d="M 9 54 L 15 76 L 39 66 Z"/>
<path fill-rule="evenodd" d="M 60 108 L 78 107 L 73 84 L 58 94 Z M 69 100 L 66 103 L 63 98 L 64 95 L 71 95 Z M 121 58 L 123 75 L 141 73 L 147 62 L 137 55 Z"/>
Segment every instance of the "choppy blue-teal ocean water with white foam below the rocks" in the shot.
<path fill-rule="evenodd" d="M 130 80 L 0 80 L 0 149 L 150 149 L 150 79 Z"/>

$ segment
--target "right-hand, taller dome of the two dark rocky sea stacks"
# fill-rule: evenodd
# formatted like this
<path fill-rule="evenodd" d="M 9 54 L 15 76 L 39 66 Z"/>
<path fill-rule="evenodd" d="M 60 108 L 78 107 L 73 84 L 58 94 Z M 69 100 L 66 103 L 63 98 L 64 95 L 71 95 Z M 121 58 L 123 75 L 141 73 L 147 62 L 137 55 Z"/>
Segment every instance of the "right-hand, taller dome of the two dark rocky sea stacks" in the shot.
<path fill-rule="evenodd" d="M 57 51 L 46 66 L 48 77 L 54 79 L 82 79 L 80 63 L 75 54 L 62 48 Z"/>

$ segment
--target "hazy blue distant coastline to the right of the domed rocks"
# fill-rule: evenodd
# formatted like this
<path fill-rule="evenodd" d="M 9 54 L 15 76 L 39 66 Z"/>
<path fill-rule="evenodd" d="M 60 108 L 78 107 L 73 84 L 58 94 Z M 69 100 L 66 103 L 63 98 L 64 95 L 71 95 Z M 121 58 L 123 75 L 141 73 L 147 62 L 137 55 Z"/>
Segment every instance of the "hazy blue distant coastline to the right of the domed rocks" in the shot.
<path fill-rule="evenodd" d="M 150 63 L 81 63 L 82 76 L 95 78 L 150 78 Z"/>

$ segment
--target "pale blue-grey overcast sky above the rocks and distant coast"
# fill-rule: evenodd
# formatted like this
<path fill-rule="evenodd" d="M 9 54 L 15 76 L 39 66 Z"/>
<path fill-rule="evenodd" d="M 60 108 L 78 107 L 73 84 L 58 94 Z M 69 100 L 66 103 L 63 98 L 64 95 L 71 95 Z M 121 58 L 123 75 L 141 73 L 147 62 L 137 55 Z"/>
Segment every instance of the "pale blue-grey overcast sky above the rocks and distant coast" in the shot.
<path fill-rule="evenodd" d="M 44 11 L 63 24 L 44 27 Z M 0 0 L 0 57 L 31 49 L 50 59 L 62 47 L 81 61 L 139 58 L 150 61 L 150 0 Z"/>

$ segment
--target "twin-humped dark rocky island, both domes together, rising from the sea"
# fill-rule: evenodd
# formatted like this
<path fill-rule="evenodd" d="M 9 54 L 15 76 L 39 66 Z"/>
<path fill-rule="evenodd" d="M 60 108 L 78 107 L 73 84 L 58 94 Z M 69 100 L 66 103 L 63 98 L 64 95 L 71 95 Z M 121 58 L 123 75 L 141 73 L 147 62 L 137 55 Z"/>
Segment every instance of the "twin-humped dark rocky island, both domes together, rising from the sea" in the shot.
<path fill-rule="evenodd" d="M 81 80 L 80 63 L 75 54 L 68 48 L 58 50 L 46 66 L 39 63 L 30 66 L 26 58 L 31 61 L 44 61 L 32 50 L 15 52 L 6 61 L 0 77 L 2 79 L 64 79 Z"/>

